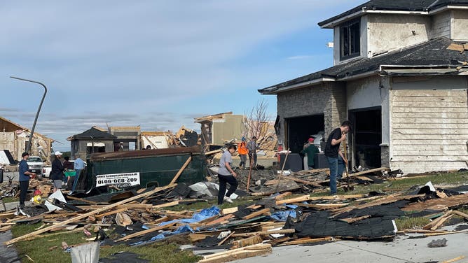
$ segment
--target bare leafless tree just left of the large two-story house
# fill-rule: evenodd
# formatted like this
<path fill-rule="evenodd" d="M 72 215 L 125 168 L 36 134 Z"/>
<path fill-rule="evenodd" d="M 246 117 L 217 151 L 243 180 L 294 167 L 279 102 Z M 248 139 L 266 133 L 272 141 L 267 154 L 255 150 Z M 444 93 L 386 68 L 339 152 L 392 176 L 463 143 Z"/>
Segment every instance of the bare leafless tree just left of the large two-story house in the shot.
<path fill-rule="evenodd" d="M 253 136 L 261 138 L 266 135 L 270 120 L 270 116 L 266 113 L 267 108 L 268 102 L 266 99 L 260 99 L 252 109 L 244 113 L 246 118 L 242 122 L 242 134 L 245 134 L 248 138 Z"/>

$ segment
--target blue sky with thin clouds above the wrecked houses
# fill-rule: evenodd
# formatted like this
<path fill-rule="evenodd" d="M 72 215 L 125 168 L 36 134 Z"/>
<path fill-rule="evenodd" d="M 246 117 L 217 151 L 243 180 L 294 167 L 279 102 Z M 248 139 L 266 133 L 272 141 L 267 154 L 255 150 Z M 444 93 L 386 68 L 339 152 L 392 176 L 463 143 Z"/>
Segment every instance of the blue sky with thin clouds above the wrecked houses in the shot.
<path fill-rule="evenodd" d="M 258 89 L 332 66 L 317 22 L 364 1 L 21 1 L 0 10 L 0 115 L 69 150 L 93 125 L 199 130 L 193 118 L 243 114 Z"/>

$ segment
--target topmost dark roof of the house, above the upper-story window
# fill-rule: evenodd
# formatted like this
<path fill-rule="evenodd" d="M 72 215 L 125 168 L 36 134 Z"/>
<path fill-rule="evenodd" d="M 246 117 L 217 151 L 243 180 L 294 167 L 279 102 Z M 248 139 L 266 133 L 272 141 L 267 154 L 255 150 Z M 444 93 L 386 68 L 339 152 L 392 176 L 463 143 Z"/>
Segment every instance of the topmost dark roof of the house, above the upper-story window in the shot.
<path fill-rule="evenodd" d="M 347 10 L 340 15 L 336 15 L 327 20 L 319 22 L 320 27 L 327 27 L 328 24 L 342 18 L 350 18 L 359 16 L 359 13 L 366 13 L 367 10 L 372 11 L 406 11 L 406 12 L 422 12 L 428 13 L 430 11 L 448 7 L 448 6 L 467 6 L 468 0 L 371 0 L 363 3 L 360 6 Z M 330 27 L 331 28 L 331 27 Z"/>

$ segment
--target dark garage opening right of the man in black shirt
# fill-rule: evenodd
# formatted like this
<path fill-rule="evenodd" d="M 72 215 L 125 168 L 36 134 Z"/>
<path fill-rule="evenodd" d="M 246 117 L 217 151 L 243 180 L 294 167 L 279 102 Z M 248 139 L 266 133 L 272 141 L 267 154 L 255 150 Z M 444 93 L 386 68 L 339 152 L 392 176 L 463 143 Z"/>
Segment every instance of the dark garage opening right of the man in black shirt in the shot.
<path fill-rule="evenodd" d="M 354 149 L 353 164 L 363 168 L 381 166 L 380 143 L 382 143 L 382 110 L 379 107 L 350 111 L 353 125 L 350 143 Z"/>

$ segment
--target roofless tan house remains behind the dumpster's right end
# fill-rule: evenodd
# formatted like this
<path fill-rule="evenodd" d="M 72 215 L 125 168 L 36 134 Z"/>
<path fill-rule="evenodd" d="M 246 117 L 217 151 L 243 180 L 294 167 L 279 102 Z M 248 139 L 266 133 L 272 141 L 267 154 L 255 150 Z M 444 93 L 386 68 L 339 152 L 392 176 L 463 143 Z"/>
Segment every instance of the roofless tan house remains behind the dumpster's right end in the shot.
<path fill-rule="evenodd" d="M 224 145 L 232 139 L 240 140 L 244 119 L 244 115 L 234 115 L 232 111 L 195 118 L 201 125 L 202 145 Z"/>

